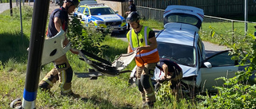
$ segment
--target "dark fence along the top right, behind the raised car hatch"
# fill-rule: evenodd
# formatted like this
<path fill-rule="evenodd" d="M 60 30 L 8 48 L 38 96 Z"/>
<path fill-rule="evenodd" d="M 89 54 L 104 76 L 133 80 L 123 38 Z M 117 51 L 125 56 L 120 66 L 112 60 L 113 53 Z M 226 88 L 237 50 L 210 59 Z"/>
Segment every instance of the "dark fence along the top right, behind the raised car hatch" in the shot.
<path fill-rule="evenodd" d="M 211 16 L 242 15 L 245 10 L 244 0 L 135 0 L 137 6 L 166 9 L 170 5 L 194 6 Z M 256 15 L 256 3 L 248 0 L 248 14 Z"/>

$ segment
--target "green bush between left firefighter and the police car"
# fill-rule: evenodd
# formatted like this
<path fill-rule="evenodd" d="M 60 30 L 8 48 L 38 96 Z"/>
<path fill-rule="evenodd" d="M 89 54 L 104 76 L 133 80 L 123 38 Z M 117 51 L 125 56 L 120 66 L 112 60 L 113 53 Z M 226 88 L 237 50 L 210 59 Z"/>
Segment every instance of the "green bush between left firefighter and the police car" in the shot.
<path fill-rule="evenodd" d="M 71 17 L 70 28 L 67 37 L 72 43 L 74 49 L 85 50 L 98 56 L 103 56 L 104 50 L 108 49 L 108 45 L 102 45 L 107 33 L 94 27 L 84 27 L 77 17 Z"/>

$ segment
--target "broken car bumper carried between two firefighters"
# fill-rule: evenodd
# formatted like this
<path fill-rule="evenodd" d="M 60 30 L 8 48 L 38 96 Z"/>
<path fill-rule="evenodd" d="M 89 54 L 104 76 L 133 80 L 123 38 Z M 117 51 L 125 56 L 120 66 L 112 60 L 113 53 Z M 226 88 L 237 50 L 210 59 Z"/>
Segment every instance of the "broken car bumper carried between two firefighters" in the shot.
<path fill-rule="evenodd" d="M 70 43 L 66 46 L 63 46 L 63 41 L 65 40 L 65 32 L 60 28 L 61 31 L 56 34 L 54 37 L 48 38 L 44 42 L 44 47 L 42 51 L 42 65 L 48 64 L 58 57 L 63 56 L 67 51 L 71 49 Z M 121 54 L 116 60 L 112 63 L 108 60 L 104 60 L 101 57 L 95 56 L 92 53 L 86 51 L 80 51 L 77 49 L 72 49 L 77 51 L 78 55 L 81 56 L 81 60 L 85 61 L 93 69 L 90 69 L 89 72 L 75 72 L 75 75 L 78 77 L 98 77 L 98 76 L 118 76 L 120 73 L 131 72 L 130 70 L 122 71 L 136 56 L 136 53 Z M 90 56 L 94 60 L 89 60 L 86 56 Z M 95 79 L 95 78 L 91 78 Z"/>

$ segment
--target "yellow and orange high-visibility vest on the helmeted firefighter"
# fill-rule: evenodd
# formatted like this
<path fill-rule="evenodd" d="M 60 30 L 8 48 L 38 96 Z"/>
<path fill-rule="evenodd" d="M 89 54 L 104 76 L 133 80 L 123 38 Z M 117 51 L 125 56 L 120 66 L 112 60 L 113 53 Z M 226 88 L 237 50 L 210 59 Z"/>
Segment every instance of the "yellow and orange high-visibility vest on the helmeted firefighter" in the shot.
<path fill-rule="evenodd" d="M 127 33 L 127 38 L 128 41 L 130 41 L 130 47 L 133 51 L 138 47 L 150 45 L 150 42 L 148 41 L 150 30 L 151 29 L 147 28 L 147 26 L 142 26 L 142 30 L 138 34 L 134 32 L 134 29 L 131 29 L 129 33 Z M 158 49 L 143 49 L 140 53 L 137 53 L 137 55 L 135 56 L 135 62 L 138 67 L 142 67 L 143 65 L 150 63 L 157 63 L 158 61 Z"/>

